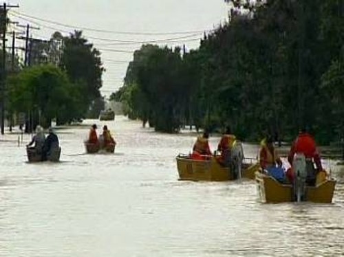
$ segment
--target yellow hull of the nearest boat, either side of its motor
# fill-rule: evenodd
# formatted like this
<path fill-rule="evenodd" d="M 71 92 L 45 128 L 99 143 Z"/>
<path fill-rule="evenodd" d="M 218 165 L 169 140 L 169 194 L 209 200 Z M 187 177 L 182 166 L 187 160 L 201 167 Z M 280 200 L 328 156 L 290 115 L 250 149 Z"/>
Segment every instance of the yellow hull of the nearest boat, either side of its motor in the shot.
<path fill-rule="evenodd" d="M 305 186 L 305 200 L 314 203 L 332 203 L 336 180 L 319 172 L 315 186 Z M 257 192 L 264 203 L 284 203 L 297 201 L 292 184 L 283 184 L 273 177 L 255 172 Z"/>

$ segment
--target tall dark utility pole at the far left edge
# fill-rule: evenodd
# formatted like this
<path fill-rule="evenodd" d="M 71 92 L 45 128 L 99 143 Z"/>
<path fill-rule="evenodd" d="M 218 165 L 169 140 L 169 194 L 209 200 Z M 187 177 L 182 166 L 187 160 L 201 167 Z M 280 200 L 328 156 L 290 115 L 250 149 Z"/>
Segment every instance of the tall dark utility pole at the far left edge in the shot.
<path fill-rule="evenodd" d="M 6 27 L 7 27 L 7 11 L 8 8 L 19 7 L 19 5 L 6 5 L 3 3 L 2 7 L 2 64 L 1 64 L 1 135 L 5 133 L 5 91 L 6 91 Z"/>

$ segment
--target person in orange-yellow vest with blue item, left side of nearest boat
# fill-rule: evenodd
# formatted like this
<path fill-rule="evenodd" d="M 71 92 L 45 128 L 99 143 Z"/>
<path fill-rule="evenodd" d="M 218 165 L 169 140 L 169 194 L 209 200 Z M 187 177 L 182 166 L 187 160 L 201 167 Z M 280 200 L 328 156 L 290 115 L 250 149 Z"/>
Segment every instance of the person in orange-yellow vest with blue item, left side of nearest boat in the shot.
<path fill-rule="evenodd" d="M 268 135 L 266 139 L 261 140 L 261 148 L 259 149 L 259 166 L 262 170 L 266 170 L 268 175 L 271 175 L 278 181 L 283 182 L 285 174 L 282 164 L 281 158 L 275 149 L 273 139 Z"/>

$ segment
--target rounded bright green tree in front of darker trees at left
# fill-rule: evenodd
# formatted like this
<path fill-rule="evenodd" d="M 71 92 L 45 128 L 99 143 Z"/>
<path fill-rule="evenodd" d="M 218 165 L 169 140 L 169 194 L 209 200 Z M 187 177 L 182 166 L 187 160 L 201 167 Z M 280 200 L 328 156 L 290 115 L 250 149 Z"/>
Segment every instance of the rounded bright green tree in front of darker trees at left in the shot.
<path fill-rule="evenodd" d="M 53 65 L 29 67 L 8 78 L 10 109 L 41 113 L 43 126 L 53 118 L 68 122 L 80 115 L 75 89 L 65 72 Z"/>

